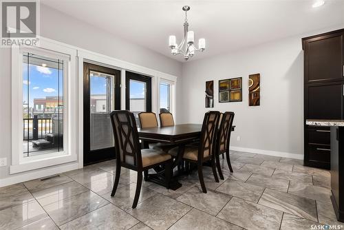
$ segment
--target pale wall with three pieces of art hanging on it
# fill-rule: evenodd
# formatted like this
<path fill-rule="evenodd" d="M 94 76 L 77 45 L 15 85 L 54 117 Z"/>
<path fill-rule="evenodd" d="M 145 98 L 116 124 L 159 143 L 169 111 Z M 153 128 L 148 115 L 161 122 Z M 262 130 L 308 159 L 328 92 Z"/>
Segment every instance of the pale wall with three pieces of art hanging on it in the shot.
<path fill-rule="evenodd" d="M 343 28 L 338 27 L 338 28 Z M 329 32 L 329 28 L 310 34 Z M 220 54 L 183 65 L 182 92 L 187 100 L 179 101 L 184 123 L 201 123 L 208 110 L 235 112 L 231 137 L 233 149 L 303 157 L 303 50 L 301 38 L 294 36 L 237 52 Z M 224 44 L 226 45 L 226 44 Z M 261 75 L 260 106 L 248 106 L 248 75 Z M 218 81 L 235 77 L 243 79 L 243 100 L 219 103 Z M 204 107 L 205 82 L 214 80 L 212 109 Z M 237 136 L 241 140 L 237 140 Z M 293 155 L 293 154 L 301 154 Z"/>

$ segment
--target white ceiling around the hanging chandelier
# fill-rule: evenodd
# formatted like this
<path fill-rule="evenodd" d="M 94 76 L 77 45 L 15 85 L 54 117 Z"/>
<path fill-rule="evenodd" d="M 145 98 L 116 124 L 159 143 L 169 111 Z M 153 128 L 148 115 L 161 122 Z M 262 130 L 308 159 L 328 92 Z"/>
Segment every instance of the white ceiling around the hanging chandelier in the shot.
<path fill-rule="evenodd" d="M 184 12 L 189 5 L 189 30 L 195 41 L 206 39 L 206 51 L 194 59 L 238 50 L 288 36 L 344 24 L 344 1 L 81 1 L 41 0 L 41 3 L 101 28 L 122 39 L 171 55 L 169 35 L 183 35 Z"/>

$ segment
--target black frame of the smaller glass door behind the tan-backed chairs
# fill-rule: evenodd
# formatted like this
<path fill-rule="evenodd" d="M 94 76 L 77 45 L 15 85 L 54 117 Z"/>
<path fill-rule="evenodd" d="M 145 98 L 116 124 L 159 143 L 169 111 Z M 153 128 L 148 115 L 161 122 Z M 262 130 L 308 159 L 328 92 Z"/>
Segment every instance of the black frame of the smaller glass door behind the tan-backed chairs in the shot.
<path fill-rule="evenodd" d="M 130 110 L 130 80 L 146 83 L 146 112 L 151 112 L 151 77 L 133 72 L 125 72 L 125 109 Z"/>

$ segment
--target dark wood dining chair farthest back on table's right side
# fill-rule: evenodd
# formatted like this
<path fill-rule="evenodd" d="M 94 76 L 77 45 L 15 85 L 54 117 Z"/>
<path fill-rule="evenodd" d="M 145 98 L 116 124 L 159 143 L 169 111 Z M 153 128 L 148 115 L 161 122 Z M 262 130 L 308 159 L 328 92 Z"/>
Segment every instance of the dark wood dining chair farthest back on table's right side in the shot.
<path fill-rule="evenodd" d="M 219 121 L 219 129 L 216 136 L 215 145 L 215 159 L 217 171 L 219 171 L 219 178 L 224 180 L 224 174 L 222 174 L 221 165 L 219 163 L 219 155 L 224 156 L 226 154 L 227 165 L 230 172 L 233 172 L 232 165 L 230 164 L 229 156 L 229 143 L 230 143 L 230 133 L 232 132 L 234 120 L 234 112 L 224 112 Z"/>

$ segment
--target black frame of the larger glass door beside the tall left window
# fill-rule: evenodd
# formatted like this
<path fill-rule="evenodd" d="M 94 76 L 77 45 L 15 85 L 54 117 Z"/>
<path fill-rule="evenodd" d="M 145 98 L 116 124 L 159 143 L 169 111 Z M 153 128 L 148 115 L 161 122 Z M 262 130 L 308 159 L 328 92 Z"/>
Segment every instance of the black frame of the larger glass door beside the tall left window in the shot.
<path fill-rule="evenodd" d="M 120 70 L 111 69 L 92 63 L 83 63 L 83 165 L 91 165 L 105 160 L 116 158 L 115 147 L 96 149 L 91 151 L 91 130 L 90 123 L 90 92 L 89 92 L 89 72 L 96 71 L 115 76 L 115 109 L 120 109 Z"/>

